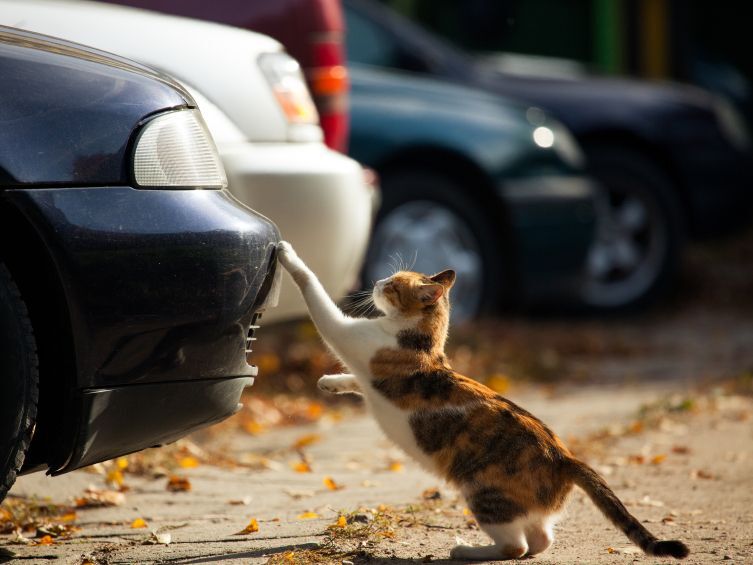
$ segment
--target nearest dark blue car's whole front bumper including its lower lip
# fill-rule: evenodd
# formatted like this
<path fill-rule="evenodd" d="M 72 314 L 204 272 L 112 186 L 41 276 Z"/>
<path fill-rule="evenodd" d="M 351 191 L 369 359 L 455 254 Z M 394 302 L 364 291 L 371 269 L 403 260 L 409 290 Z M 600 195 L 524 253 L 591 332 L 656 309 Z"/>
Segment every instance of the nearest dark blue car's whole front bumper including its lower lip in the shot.
<path fill-rule="evenodd" d="M 237 410 L 247 340 L 279 286 L 275 225 L 220 190 L 6 191 L 69 312 L 75 374 L 54 474 L 173 441 Z M 40 349 L 45 347 L 39 344 Z"/>

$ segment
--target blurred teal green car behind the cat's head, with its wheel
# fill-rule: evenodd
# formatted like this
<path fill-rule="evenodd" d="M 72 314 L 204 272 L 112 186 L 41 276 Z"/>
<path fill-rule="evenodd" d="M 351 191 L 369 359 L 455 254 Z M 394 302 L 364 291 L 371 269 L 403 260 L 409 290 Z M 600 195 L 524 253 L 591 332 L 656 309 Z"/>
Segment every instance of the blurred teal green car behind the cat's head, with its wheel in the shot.
<path fill-rule="evenodd" d="M 351 66 L 350 155 L 382 207 L 364 282 L 401 266 L 453 268 L 455 319 L 578 300 L 594 186 L 569 132 L 537 108 Z"/>

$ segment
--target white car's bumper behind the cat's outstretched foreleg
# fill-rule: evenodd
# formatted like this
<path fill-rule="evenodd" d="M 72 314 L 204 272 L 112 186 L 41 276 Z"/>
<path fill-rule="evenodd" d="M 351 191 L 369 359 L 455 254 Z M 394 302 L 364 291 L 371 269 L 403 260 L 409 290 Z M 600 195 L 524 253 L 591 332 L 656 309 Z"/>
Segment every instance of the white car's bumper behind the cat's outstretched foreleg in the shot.
<path fill-rule="evenodd" d="M 321 143 L 219 146 L 229 190 L 273 220 L 327 292 L 339 300 L 357 282 L 371 233 L 375 189 L 361 166 Z M 277 308 L 264 322 L 307 316 L 287 275 Z"/>

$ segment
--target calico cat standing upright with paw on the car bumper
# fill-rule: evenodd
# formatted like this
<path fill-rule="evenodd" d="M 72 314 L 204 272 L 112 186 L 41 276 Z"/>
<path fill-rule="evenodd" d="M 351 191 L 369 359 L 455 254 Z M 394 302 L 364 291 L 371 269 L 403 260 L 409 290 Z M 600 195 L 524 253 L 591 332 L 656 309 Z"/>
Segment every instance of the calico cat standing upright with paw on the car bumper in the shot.
<path fill-rule="evenodd" d="M 287 242 L 279 261 L 290 272 L 322 338 L 351 371 L 319 387 L 360 392 L 384 433 L 465 496 L 494 544 L 457 545 L 456 559 L 515 559 L 545 551 L 573 485 L 644 552 L 684 558 L 680 541 L 660 541 L 636 520 L 604 479 L 574 458 L 535 416 L 455 373 L 444 354 L 454 271 L 401 271 L 376 283 L 374 319 L 351 318 Z"/>

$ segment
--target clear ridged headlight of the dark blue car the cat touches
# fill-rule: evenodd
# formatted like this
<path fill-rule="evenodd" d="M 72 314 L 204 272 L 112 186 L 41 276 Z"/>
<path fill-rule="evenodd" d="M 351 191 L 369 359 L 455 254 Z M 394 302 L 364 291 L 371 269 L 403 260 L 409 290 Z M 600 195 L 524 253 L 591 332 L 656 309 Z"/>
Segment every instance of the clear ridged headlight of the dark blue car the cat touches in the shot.
<path fill-rule="evenodd" d="M 133 150 L 141 188 L 225 188 L 227 177 L 198 110 L 160 114 L 144 124 Z"/>

